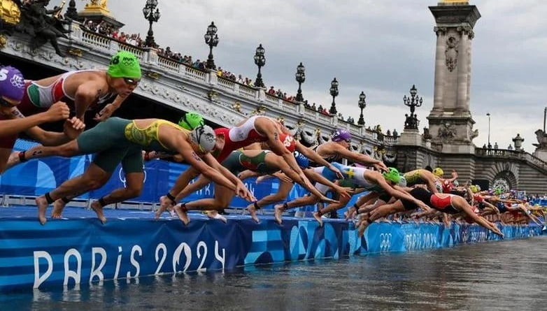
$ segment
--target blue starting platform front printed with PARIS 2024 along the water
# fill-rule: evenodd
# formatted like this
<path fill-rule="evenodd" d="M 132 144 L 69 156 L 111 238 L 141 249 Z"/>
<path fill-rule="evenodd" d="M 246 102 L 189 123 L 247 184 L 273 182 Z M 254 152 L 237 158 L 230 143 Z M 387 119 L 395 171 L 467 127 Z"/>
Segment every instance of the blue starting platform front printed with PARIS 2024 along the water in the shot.
<path fill-rule="evenodd" d="M 279 225 L 271 215 L 261 215 L 260 224 L 227 215 L 225 224 L 191 213 L 185 226 L 178 218 L 154 219 L 151 211 L 107 209 L 105 215 L 101 224 L 91 210 L 66 208 L 69 218 L 41 225 L 35 206 L 0 208 L 0 291 L 499 240 L 467 224 L 379 223 L 357 238 L 353 223 L 338 219 L 320 227 L 308 218 L 285 217 Z M 541 235 L 535 225 L 501 228 L 505 239 Z"/>

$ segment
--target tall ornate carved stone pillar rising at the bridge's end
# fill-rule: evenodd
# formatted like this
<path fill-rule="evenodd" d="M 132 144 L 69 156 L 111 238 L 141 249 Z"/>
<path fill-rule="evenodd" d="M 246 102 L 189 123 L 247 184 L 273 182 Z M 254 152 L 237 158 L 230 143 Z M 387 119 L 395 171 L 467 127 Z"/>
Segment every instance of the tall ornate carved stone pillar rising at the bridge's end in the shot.
<path fill-rule="evenodd" d="M 429 113 L 432 147 L 442 152 L 474 153 L 478 135 L 469 110 L 471 40 L 481 17 L 467 1 L 443 1 L 430 6 L 437 36 L 433 109 Z"/>

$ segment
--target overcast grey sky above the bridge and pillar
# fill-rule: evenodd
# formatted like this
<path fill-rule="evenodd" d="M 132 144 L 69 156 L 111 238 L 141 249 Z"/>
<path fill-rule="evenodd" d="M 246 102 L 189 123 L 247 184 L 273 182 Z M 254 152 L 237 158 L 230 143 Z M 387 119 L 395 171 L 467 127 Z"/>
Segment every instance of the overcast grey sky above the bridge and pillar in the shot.
<path fill-rule="evenodd" d="M 57 5 L 59 0 L 51 1 Z M 256 77 L 255 49 L 262 43 L 265 84 L 296 94 L 294 73 L 306 66 L 302 86 L 309 103 L 330 106 L 332 78 L 339 80 L 336 106 L 344 117 L 357 121 L 361 91 L 367 94 L 367 126 L 381 124 L 402 131 L 408 108 L 402 98 L 412 85 L 424 103 L 418 108 L 420 128 L 427 126 L 433 106 L 434 17 L 427 6 L 435 0 L 297 0 L 225 1 L 158 0 L 162 13 L 154 24 L 162 47 L 194 59 L 206 59 L 206 27 L 218 27 L 220 43 L 215 63 L 243 77 Z M 78 1 L 78 9 L 85 1 Z M 111 0 L 108 8 L 129 33 L 145 37 L 148 21 L 145 0 Z M 481 12 L 474 27 L 471 69 L 471 113 L 480 134 L 506 148 L 520 133 L 525 150 L 533 152 L 534 131 L 543 128 L 547 106 L 547 2 L 544 0 L 472 1 Z"/>

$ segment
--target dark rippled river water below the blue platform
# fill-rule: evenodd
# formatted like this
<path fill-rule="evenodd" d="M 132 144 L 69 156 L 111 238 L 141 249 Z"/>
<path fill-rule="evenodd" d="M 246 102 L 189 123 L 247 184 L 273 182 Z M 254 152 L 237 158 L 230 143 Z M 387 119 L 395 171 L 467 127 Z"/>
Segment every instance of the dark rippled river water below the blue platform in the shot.
<path fill-rule="evenodd" d="M 547 237 L 0 295 L 0 310 L 547 310 Z"/>

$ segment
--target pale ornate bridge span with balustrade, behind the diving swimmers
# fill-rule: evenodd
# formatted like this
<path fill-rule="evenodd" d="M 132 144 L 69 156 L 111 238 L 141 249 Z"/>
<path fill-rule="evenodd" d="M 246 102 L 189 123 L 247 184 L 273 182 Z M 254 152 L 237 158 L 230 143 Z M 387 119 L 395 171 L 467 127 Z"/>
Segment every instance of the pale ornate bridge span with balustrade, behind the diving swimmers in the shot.
<path fill-rule="evenodd" d="M 50 45 L 38 50 L 29 48 L 29 37 L 22 34 L 4 37 L 0 55 L 10 55 L 40 66 L 60 71 L 106 68 L 111 55 L 118 50 L 133 52 L 141 62 L 143 79 L 135 94 L 151 102 L 176 108 L 180 111 L 197 111 L 206 119 L 221 126 L 233 126 L 250 115 L 273 117 L 292 129 L 306 145 L 329 140 L 334 129 L 346 129 L 353 134 L 352 149 L 383 159 L 389 157 L 393 136 L 385 136 L 323 115 L 304 107 L 304 103 L 285 101 L 271 96 L 262 88 L 248 87 L 221 78 L 216 71 L 200 71 L 192 66 L 157 55 L 154 49 L 137 48 L 113 38 L 86 31 L 78 22 L 71 24 L 69 40 L 59 38 L 59 45 L 68 52 L 59 57 Z"/>

